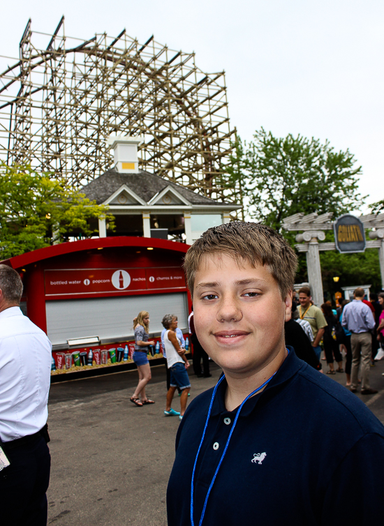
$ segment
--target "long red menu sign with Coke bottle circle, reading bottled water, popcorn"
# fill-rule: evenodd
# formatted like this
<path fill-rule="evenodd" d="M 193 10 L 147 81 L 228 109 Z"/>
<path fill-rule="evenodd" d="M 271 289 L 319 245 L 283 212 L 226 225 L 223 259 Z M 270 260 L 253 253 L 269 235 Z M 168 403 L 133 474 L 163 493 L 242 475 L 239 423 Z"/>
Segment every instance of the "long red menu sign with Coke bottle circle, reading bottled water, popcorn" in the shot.
<path fill-rule="evenodd" d="M 47 297 L 186 287 L 180 267 L 45 270 L 44 277 Z"/>

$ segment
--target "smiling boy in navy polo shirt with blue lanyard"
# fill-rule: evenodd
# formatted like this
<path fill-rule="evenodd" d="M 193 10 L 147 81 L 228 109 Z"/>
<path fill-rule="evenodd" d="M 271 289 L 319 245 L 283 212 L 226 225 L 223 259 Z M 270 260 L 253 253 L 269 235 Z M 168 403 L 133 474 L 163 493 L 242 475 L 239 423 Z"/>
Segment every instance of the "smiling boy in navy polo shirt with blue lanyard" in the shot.
<path fill-rule="evenodd" d="M 186 254 L 196 333 L 224 375 L 179 426 L 169 526 L 384 522 L 384 427 L 286 349 L 296 266 L 255 223 L 211 228 Z"/>

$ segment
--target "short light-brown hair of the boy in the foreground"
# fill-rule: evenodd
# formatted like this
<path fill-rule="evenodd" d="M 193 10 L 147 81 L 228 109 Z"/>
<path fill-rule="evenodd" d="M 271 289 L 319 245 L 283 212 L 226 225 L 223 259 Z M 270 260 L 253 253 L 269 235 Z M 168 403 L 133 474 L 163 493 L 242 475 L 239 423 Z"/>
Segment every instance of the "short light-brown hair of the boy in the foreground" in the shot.
<path fill-rule="evenodd" d="M 293 290 L 297 256 L 275 230 L 260 223 L 232 221 L 209 228 L 186 253 L 184 271 L 191 294 L 195 274 L 205 256 L 214 253 L 233 257 L 239 265 L 245 260 L 255 267 L 266 266 L 276 280 L 283 299 Z"/>

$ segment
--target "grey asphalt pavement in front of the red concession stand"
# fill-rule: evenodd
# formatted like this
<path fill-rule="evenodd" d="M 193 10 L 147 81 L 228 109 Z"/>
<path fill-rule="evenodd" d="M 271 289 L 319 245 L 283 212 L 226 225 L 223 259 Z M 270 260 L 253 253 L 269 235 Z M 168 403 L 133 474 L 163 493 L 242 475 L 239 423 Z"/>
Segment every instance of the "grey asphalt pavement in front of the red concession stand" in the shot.
<path fill-rule="evenodd" d="M 189 400 L 217 382 L 221 370 L 214 363 L 211 369 L 211 378 L 197 378 L 189 369 Z M 376 362 L 371 386 L 378 393 L 356 396 L 384 423 L 382 373 L 384 361 Z M 330 378 L 346 382 L 341 373 Z M 130 402 L 137 382 L 137 371 L 128 371 L 52 384 L 49 525 L 166 525 L 165 492 L 179 418 L 163 414 L 164 366 L 152 369 L 148 384 L 154 405 L 136 407 Z M 172 407 L 179 409 L 178 396 Z"/>

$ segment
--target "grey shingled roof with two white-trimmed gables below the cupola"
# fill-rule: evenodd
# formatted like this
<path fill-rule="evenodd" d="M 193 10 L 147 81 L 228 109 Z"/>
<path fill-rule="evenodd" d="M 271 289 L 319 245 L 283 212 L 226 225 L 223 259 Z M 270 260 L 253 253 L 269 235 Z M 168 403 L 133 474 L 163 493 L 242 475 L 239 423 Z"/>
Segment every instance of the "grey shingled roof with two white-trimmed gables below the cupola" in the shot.
<path fill-rule="evenodd" d="M 149 172 L 140 171 L 138 174 L 121 174 L 111 168 L 105 174 L 98 176 L 94 181 L 91 181 L 87 185 L 83 186 L 80 191 L 86 195 L 91 200 L 95 200 L 97 204 L 102 204 L 108 199 L 117 193 L 117 190 L 121 186 L 126 186 L 132 190 L 133 195 L 137 195 L 149 203 L 156 194 L 160 195 L 165 188 L 174 188 L 176 193 L 184 198 L 186 202 L 191 203 L 191 205 L 208 205 L 208 206 L 221 206 L 223 204 L 232 204 L 228 202 L 217 202 L 209 197 L 204 197 L 203 195 L 189 190 L 177 183 L 172 183 L 167 179 L 162 177 L 150 174 Z M 154 200 L 156 201 L 156 200 Z M 233 203 L 233 209 L 237 209 L 240 205 Z"/>

